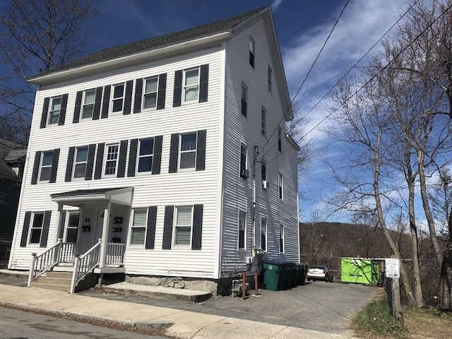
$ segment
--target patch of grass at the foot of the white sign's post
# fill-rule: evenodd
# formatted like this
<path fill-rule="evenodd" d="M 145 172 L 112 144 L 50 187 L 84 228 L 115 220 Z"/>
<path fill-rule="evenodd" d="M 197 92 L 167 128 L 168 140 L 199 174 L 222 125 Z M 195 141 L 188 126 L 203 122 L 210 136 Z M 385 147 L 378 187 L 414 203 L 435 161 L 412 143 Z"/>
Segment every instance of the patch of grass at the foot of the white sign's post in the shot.
<path fill-rule="evenodd" d="M 410 338 L 407 328 L 396 318 L 391 316 L 388 299 L 383 297 L 370 302 L 367 307 L 357 314 L 355 319 L 357 331 L 360 334 L 375 338 Z"/>

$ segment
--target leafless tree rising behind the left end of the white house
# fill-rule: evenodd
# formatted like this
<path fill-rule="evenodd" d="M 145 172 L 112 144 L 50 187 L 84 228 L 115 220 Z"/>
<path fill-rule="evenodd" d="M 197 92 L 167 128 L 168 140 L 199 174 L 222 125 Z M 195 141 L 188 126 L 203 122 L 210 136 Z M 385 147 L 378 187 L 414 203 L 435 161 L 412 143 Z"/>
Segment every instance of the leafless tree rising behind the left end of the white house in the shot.
<path fill-rule="evenodd" d="M 81 56 L 91 35 L 87 0 L 11 0 L 0 16 L 0 134 L 25 143 L 35 88 L 25 79 Z"/>

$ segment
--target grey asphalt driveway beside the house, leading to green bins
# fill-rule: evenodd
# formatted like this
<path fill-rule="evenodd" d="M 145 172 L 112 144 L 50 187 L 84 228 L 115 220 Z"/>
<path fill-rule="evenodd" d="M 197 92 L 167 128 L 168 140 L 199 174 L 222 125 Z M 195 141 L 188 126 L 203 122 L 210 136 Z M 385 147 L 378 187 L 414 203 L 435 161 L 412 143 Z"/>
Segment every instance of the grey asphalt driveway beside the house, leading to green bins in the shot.
<path fill-rule="evenodd" d="M 194 304 L 165 299 L 112 295 L 97 291 L 81 295 L 172 307 L 204 314 L 306 328 L 328 333 L 350 334 L 350 321 L 371 300 L 373 288 L 362 285 L 315 282 L 286 291 L 259 290 L 260 296 L 214 297 Z"/>

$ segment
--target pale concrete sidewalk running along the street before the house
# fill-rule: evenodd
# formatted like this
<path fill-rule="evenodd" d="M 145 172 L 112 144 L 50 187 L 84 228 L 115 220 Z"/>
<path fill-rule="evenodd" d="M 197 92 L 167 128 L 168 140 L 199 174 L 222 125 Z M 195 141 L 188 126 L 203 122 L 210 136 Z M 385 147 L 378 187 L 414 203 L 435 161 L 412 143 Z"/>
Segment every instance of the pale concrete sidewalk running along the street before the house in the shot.
<path fill-rule="evenodd" d="M 61 316 L 113 321 L 141 328 L 166 328 L 175 338 L 352 338 L 303 328 L 247 321 L 225 316 L 200 314 L 180 309 L 120 302 L 37 287 L 0 285 L 0 306 L 16 306 L 30 311 L 47 311 Z"/>

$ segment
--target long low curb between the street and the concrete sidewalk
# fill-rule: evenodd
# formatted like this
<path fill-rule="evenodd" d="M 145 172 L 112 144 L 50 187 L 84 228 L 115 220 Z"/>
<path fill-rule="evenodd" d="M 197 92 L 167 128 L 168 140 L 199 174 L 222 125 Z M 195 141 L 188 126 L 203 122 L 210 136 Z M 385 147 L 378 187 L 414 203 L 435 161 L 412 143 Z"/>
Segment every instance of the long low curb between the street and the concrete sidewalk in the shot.
<path fill-rule="evenodd" d="M 42 313 L 49 316 L 55 316 L 57 318 L 73 317 L 80 319 L 82 321 L 98 321 L 100 323 L 116 323 L 121 326 L 140 328 L 146 330 L 166 330 L 167 328 L 174 325 L 172 322 L 165 321 L 131 321 L 124 319 L 112 319 L 106 316 L 92 316 L 84 313 L 72 312 L 72 311 L 61 311 L 58 309 L 48 309 L 47 307 L 37 307 L 30 304 L 21 304 L 18 302 L 6 302 L 0 301 L 0 307 L 10 307 L 14 309 L 20 309 L 22 311 Z"/>

